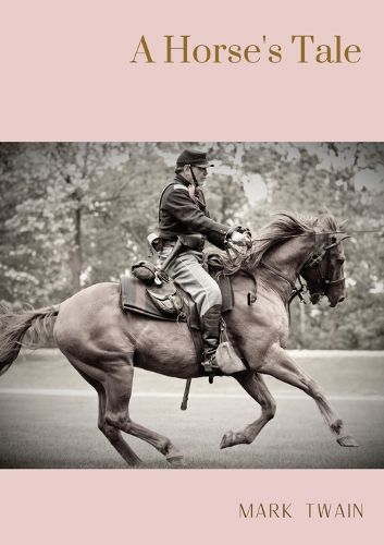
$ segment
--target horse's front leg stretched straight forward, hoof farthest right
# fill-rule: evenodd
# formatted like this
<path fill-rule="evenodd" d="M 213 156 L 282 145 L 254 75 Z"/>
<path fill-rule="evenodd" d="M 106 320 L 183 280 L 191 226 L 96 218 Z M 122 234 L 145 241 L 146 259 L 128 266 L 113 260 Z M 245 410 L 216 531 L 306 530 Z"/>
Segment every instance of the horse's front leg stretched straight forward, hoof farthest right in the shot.
<path fill-rule="evenodd" d="M 331 432 L 336 436 L 337 443 L 342 447 L 358 447 L 358 443 L 354 437 L 345 432 L 342 419 L 331 407 L 319 384 L 300 370 L 284 349 L 275 344 L 258 371 L 296 386 L 308 393 L 314 399 Z"/>

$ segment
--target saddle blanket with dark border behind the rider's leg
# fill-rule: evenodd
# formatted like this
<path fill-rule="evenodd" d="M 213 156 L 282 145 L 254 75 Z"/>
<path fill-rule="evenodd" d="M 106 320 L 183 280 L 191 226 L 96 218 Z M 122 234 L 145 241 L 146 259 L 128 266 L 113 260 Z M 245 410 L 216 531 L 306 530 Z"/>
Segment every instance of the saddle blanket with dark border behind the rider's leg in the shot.
<path fill-rule="evenodd" d="M 147 294 L 146 286 L 135 277 L 123 276 L 121 278 L 122 307 L 124 311 L 132 311 L 145 314 L 151 318 L 165 319 L 168 322 L 186 322 L 184 316 L 165 316 L 154 306 Z"/>

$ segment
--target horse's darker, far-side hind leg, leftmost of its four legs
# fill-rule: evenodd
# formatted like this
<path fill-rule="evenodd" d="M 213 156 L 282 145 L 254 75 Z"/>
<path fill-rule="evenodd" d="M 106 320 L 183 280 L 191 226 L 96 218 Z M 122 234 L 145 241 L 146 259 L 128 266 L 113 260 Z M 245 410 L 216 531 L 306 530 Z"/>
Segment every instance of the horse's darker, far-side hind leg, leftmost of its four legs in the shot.
<path fill-rule="evenodd" d="M 104 434 L 110 444 L 117 450 L 120 456 L 126 461 L 128 465 L 139 465 L 141 460 L 132 450 L 129 445 L 123 439 L 122 433 L 114 426 L 107 423 L 106 420 L 106 392 L 100 383 L 87 376 L 83 371 L 77 368 L 78 373 L 87 383 L 89 383 L 97 391 L 99 397 L 99 421 L 98 426 L 100 432 Z"/>

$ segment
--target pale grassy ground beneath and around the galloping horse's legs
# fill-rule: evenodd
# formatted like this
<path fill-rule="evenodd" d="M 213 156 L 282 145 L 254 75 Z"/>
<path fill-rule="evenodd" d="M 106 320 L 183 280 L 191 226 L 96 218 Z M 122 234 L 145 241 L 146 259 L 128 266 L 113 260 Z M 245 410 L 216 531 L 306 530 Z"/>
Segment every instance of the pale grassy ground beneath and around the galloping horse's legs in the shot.
<path fill-rule="evenodd" d="M 298 352 L 359 448 L 342 448 L 314 402 L 267 377 L 275 419 L 250 446 L 220 450 L 224 432 L 244 428 L 259 407 L 232 378 L 195 379 L 179 410 L 184 382 L 137 370 L 131 415 L 169 436 L 186 468 L 384 468 L 384 353 Z M 127 437 L 145 468 L 166 468 L 149 445 Z M 97 428 L 97 397 L 58 351 L 22 354 L 0 378 L 0 468 L 125 468 Z"/>

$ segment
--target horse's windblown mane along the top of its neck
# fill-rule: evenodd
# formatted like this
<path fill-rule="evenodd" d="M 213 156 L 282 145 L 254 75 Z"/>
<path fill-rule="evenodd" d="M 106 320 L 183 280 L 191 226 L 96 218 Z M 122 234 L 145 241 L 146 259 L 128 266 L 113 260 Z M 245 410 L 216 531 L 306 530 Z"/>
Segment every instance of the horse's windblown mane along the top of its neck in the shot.
<path fill-rule="evenodd" d="M 270 223 L 257 233 L 252 247 L 248 252 L 245 254 L 239 253 L 236 257 L 232 258 L 227 255 L 222 256 L 225 275 L 234 275 L 240 268 L 255 270 L 265 252 L 285 239 L 298 234 L 313 234 L 320 232 L 321 229 L 319 228 L 321 227 L 326 227 L 331 230 L 337 229 L 333 216 L 314 218 L 286 211 L 278 213 L 275 216 Z"/>

